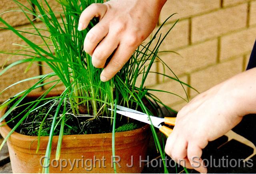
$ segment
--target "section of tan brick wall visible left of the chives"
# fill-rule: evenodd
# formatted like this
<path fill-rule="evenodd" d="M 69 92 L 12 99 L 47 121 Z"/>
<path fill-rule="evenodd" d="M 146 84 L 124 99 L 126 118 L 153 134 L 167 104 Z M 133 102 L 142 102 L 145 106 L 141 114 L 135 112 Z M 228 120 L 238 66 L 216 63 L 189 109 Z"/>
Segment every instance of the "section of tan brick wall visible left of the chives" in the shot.
<path fill-rule="evenodd" d="M 18 2 L 20 2 L 27 8 L 31 9 L 31 6 L 27 0 L 18 0 Z M 52 9 L 56 10 L 56 12 L 59 12 L 58 10 L 60 10 L 60 8 L 58 8 L 59 5 L 55 0 L 48 0 L 48 2 L 52 6 Z M 29 20 L 23 14 L 23 12 L 19 12 L 20 8 L 17 6 L 17 4 L 15 4 L 12 0 L 1 0 L 0 14 L 10 10 L 12 12 L 7 12 L 1 15 L 1 17 L 4 20 L 6 20 L 6 22 L 8 22 L 9 24 L 11 24 L 13 27 L 15 27 L 20 31 L 36 33 L 36 31 L 32 29 L 33 26 L 31 26 Z M 30 20 L 34 19 L 32 15 L 30 14 L 27 14 L 27 15 L 30 18 Z M 39 28 L 44 27 L 42 23 L 37 21 L 35 21 L 34 24 L 40 25 L 38 26 Z M 0 27 L 6 27 L 6 26 L 0 23 Z M 43 44 L 40 36 L 34 36 L 26 33 L 22 33 L 22 35 L 26 36 L 29 39 L 32 39 L 38 45 Z M 44 33 L 44 35 L 47 36 L 46 33 Z M 19 46 L 19 45 L 26 45 L 26 43 L 22 41 L 22 39 L 18 38 L 15 34 L 13 34 L 13 32 L 11 32 L 10 30 L 2 29 L 2 28 L 0 28 L 0 42 L 1 42 L 0 44 L 1 51 L 18 50 L 22 48 L 22 46 Z M 12 51 L 12 52 L 15 52 L 15 51 Z M 22 52 L 22 53 L 25 53 L 25 52 Z M 6 66 L 10 65 L 10 63 L 13 63 L 14 61 L 17 61 L 23 58 L 24 57 L 22 56 L 16 56 L 16 55 L 10 56 L 10 55 L 0 53 L 0 67 L 1 67 L 0 71 L 2 71 L 2 69 L 4 69 Z M 29 70 L 27 71 L 28 67 L 29 67 Z M 32 65 L 30 65 L 29 63 L 23 63 L 21 65 L 12 67 L 8 71 L 6 71 L 6 73 L 4 73 L 2 76 L 0 76 L 0 81 L 1 81 L 0 91 L 5 89 L 12 83 L 15 83 L 17 81 L 20 81 L 22 79 L 26 79 L 29 77 L 34 77 L 36 75 L 41 75 L 42 73 L 50 73 L 50 72 L 48 68 L 40 66 L 39 62 L 34 62 Z M 15 95 L 16 93 L 23 91 L 28 87 L 31 87 L 37 81 L 38 81 L 37 79 L 32 81 L 26 81 L 18 85 L 15 85 L 10 89 L 7 89 L 4 93 L 0 94 L 0 102 L 3 102 L 9 97 L 12 97 L 13 95 Z M 36 89 L 35 91 L 41 91 L 41 90 L 42 89 Z"/>

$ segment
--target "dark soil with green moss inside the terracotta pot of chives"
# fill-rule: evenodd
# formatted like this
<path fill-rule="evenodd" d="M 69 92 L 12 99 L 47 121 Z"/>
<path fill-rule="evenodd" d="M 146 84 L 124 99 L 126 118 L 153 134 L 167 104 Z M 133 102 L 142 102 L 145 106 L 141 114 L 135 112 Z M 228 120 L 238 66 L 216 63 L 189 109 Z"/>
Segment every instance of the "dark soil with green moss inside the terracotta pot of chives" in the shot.
<path fill-rule="evenodd" d="M 22 101 L 20 105 L 27 102 L 28 101 Z M 58 102 L 54 104 L 54 101 L 48 101 L 48 100 L 41 101 L 38 106 L 40 105 L 44 105 L 44 106 L 36 109 L 35 111 L 32 111 L 15 131 L 20 134 L 25 134 L 29 136 L 38 136 L 40 126 L 42 125 L 40 136 L 48 136 L 50 133 L 53 117 L 58 107 L 58 104 L 59 104 Z M 47 118 L 44 120 L 46 113 L 50 110 L 52 105 L 54 105 L 53 108 L 51 109 Z M 8 107 L 8 109 L 10 108 L 10 106 Z M 28 105 L 16 107 L 16 109 L 14 109 L 10 113 L 10 115 L 6 117 L 6 122 L 8 122 L 8 126 L 10 128 L 13 128 L 20 121 L 20 119 L 28 112 L 29 109 L 26 109 L 27 107 Z M 60 108 L 60 113 L 62 113 L 63 109 L 64 109 L 64 106 L 62 105 Z M 69 110 L 69 109 L 70 109 L 70 105 L 68 105 L 67 103 L 66 110 Z M 17 117 L 17 115 L 24 110 L 26 111 Z M 56 129 L 54 130 L 54 135 L 59 135 L 60 133 L 60 124 L 61 124 L 60 118 L 61 118 L 61 115 L 58 115 L 56 118 L 56 123 L 55 123 Z M 110 123 L 110 119 L 106 119 L 102 117 L 101 118 L 96 117 L 95 119 L 92 119 L 92 118 L 93 117 L 77 117 L 72 114 L 66 114 L 65 124 L 64 124 L 64 135 L 98 134 L 98 133 L 112 132 L 112 125 Z M 145 125 L 144 123 L 141 123 L 135 120 L 130 119 L 130 121 L 128 121 L 126 117 L 121 117 L 120 115 L 116 116 L 117 132 L 137 129 L 144 125 Z"/>

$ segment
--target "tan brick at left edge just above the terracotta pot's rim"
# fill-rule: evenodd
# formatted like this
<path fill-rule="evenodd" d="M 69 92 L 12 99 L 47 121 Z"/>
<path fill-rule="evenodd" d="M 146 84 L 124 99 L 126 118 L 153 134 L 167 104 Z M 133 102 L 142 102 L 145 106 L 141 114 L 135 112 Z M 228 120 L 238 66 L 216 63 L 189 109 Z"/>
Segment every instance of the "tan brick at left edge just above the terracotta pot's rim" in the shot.
<path fill-rule="evenodd" d="M 8 71 L 6 71 L 3 75 L 1 75 L 0 91 L 4 90 L 9 85 L 16 83 L 20 80 L 39 75 L 38 65 L 34 63 L 30 67 L 29 71 L 25 73 L 24 71 L 26 70 L 27 67 L 28 67 L 28 63 L 20 64 L 15 67 L 12 67 Z M 4 102 L 6 99 L 9 99 L 16 93 L 21 92 L 25 89 L 28 89 L 29 87 L 32 87 L 37 81 L 38 79 L 26 81 L 18 85 L 15 85 L 10 89 L 7 89 L 4 93 L 1 94 L 0 102 Z M 40 91 L 40 90 L 41 88 L 36 89 L 35 91 Z"/>

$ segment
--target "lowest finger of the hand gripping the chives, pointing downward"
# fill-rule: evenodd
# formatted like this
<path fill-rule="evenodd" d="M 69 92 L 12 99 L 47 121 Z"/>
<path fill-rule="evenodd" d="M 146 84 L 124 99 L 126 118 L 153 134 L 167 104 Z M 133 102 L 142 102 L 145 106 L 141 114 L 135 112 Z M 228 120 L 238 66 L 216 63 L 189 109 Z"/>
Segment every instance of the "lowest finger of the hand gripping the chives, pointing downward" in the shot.
<path fill-rule="evenodd" d="M 108 81 L 124 66 L 129 60 L 136 47 L 129 47 L 125 43 L 120 43 L 108 65 L 103 69 L 100 80 Z"/>

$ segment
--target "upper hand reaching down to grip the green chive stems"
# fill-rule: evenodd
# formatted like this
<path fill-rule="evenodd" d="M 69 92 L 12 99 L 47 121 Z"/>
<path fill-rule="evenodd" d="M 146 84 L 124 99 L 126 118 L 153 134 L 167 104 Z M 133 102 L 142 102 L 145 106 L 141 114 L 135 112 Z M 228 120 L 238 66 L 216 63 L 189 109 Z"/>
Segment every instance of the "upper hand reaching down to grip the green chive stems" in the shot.
<path fill-rule="evenodd" d="M 101 81 L 111 79 L 128 61 L 135 49 L 154 30 L 166 0 L 110 0 L 92 4 L 81 14 L 78 30 L 84 30 L 90 20 L 98 17 L 86 35 L 84 51 L 92 55 L 92 64 L 104 68 Z M 112 55 L 106 67 L 106 59 Z"/>

